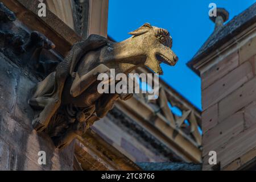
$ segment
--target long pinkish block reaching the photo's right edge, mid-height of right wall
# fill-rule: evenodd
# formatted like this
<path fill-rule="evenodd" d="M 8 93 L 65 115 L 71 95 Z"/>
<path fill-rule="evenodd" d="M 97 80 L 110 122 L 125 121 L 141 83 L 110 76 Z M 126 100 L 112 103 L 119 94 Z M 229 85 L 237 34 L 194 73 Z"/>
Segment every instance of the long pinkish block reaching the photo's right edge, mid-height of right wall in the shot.
<path fill-rule="evenodd" d="M 256 100 L 256 78 L 246 82 L 219 103 L 219 121 Z"/>

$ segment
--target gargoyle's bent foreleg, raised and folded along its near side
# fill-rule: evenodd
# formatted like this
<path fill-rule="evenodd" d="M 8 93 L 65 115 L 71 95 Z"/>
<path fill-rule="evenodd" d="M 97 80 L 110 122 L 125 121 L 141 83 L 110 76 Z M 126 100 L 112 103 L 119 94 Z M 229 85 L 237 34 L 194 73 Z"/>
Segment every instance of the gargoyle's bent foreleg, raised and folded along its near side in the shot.
<path fill-rule="evenodd" d="M 110 69 L 104 64 L 98 65 L 85 75 L 80 76 L 76 73 L 75 80 L 71 86 L 70 93 L 73 97 L 79 96 L 84 90 L 86 90 L 93 82 L 97 81 L 97 77 L 100 73 L 106 73 L 110 76 Z"/>

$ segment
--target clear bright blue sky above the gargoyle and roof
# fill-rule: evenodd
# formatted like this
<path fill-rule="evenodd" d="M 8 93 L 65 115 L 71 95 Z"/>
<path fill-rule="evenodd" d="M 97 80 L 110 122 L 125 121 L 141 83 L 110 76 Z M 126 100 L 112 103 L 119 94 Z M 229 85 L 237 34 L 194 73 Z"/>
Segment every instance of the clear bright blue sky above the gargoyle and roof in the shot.
<path fill-rule="evenodd" d="M 214 30 L 208 16 L 209 3 L 229 11 L 229 20 L 253 5 L 256 0 L 109 0 L 108 34 L 120 42 L 130 31 L 150 23 L 166 28 L 179 57 L 175 67 L 162 64 L 164 81 L 201 109 L 200 77 L 185 64 Z"/>

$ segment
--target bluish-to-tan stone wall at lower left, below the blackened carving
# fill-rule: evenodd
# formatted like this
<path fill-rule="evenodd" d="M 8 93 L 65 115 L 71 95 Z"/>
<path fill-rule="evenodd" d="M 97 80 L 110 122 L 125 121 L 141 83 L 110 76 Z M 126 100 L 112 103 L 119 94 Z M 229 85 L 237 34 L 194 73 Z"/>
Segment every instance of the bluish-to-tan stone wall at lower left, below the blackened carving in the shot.
<path fill-rule="evenodd" d="M 48 136 L 32 129 L 27 101 L 36 82 L 0 52 L 0 170 L 73 169 L 73 144 L 58 151 Z M 38 164 L 39 151 L 46 152 L 46 165 Z"/>

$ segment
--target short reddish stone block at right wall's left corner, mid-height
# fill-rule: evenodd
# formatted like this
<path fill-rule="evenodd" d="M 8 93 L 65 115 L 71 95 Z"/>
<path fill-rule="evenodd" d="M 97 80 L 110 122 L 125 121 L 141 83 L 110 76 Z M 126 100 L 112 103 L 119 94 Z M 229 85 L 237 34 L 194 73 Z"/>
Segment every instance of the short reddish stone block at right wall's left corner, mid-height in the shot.
<path fill-rule="evenodd" d="M 203 134 L 212 127 L 216 126 L 218 123 L 218 105 L 215 104 L 209 107 L 207 110 L 204 110 L 202 113 L 202 128 Z"/>

